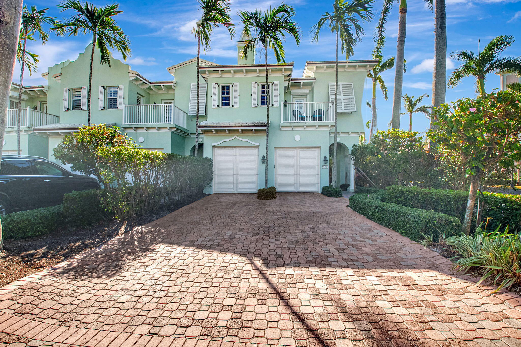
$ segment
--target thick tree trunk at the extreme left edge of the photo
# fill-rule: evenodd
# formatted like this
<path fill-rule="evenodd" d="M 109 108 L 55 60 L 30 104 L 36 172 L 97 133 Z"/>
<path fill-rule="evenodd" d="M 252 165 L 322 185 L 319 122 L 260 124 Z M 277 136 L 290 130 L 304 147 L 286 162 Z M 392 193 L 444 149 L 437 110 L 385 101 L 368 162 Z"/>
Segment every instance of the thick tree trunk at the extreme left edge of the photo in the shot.
<path fill-rule="evenodd" d="M 0 153 L 4 143 L 9 92 L 15 69 L 16 51 L 20 38 L 20 20 L 22 16 L 21 0 L 2 0 L 0 3 Z M 0 221 L 0 248 L 2 242 L 2 224 Z"/>

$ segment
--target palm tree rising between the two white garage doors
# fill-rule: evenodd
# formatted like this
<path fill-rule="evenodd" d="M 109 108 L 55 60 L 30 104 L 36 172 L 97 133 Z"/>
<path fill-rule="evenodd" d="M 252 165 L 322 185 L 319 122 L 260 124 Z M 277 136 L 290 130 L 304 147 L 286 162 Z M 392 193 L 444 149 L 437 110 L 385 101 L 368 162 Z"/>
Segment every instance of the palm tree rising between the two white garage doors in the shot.
<path fill-rule="evenodd" d="M 284 46 L 282 41 L 286 36 L 292 36 L 297 45 L 300 44 L 300 28 L 293 20 L 295 10 L 292 6 L 281 4 L 275 8 L 261 12 L 255 10 L 240 11 L 239 16 L 244 24 L 242 36 L 249 38 L 245 40 L 245 45 L 241 54 L 247 57 L 248 54 L 255 53 L 255 47 L 264 48 L 264 65 L 266 73 L 266 88 L 268 87 L 268 49 L 273 49 L 277 63 L 285 63 Z M 268 188 L 268 140 L 269 140 L 269 103 L 270 93 L 267 93 L 266 101 L 266 162 L 264 173 L 264 186 Z"/>

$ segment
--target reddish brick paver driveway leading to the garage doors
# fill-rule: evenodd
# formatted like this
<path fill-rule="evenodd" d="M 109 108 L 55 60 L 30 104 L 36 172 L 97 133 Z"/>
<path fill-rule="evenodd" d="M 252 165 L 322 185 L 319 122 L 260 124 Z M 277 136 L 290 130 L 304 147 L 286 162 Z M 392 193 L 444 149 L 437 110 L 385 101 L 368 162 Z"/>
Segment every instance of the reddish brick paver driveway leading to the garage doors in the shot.
<path fill-rule="evenodd" d="M 20 346 L 521 345 L 517 296 L 491 295 L 451 274 L 441 256 L 347 202 L 319 194 L 208 196 L 4 287 L 2 339 Z"/>

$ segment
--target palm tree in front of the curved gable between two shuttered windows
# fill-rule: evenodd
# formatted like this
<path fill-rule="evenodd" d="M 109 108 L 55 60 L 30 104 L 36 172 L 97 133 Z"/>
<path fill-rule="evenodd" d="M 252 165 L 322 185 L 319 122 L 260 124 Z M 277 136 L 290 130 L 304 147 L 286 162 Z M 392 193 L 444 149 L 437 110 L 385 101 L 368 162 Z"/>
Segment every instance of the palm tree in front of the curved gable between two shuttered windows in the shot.
<path fill-rule="evenodd" d="M 92 65 L 94 61 L 94 49 L 100 50 L 100 64 L 110 66 L 110 52 L 108 47 L 117 49 L 123 59 L 127 60 L 130 54 L 130 41 L 123 30 L 117 26 L 114 16 L 122 13 L 118 11 L 118 4 L 96 7 L 85 2 L 81 4 L 78 0 L 67 0 L 58 5 L 61 12 L 71 9 L 76 13 L 63 23 L 59 23 L 53 29 L 59 34 L 69 33 L 69 36 L 76 36 L 78 32 L 83 34 L 92 33 L 91 65 L 89 70 L 89 85 L 87 86 L 87 125 L 91 125 L 91 86 L 92 86 Z"/>

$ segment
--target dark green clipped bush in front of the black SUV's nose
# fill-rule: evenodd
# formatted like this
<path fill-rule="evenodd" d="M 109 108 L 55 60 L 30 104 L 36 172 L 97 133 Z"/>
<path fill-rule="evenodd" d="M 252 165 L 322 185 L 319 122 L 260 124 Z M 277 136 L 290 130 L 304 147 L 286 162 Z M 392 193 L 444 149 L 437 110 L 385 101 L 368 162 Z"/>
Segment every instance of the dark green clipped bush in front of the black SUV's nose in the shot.
<path fill-rule="evenodd" d="M 63 211 L 70 225 L 87 227 L 108 218 L 102 205 L 104 191 L 100 189 L 72 192 L 64 195 Z"/>

